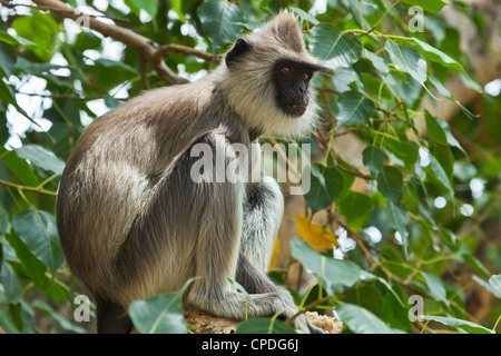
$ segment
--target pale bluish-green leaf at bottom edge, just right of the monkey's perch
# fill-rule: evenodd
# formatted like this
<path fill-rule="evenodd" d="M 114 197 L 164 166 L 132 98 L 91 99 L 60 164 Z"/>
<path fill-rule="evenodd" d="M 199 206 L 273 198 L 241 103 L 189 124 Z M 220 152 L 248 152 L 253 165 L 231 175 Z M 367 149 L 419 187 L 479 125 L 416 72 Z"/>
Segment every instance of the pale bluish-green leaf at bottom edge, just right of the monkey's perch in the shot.
<path fill-rule="evenodd" d="M 336 306 L 336 312 L 343 323 L 355 334 L 395 333 L 373 313 L 357 305 L 342 304 Z"/>

